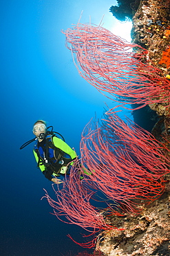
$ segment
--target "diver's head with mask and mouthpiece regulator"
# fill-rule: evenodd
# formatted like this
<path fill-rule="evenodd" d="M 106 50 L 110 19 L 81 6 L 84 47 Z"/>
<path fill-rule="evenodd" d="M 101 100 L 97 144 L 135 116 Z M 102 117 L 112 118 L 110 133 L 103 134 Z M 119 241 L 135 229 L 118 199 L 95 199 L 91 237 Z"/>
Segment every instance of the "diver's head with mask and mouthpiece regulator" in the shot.
<path fill-rule="evenodd" d="M 43 120 L 38 120 L 34 123 L 33 134 L 41 142 L 45 138 L 45 133 L 47 131 L 46 122 Z"/>

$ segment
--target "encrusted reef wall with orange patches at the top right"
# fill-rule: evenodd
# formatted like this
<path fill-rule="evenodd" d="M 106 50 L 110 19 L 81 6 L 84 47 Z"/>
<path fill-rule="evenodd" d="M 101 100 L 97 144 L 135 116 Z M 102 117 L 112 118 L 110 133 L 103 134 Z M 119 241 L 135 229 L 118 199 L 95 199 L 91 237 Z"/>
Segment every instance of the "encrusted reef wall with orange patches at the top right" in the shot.
<path fill-rule="evenodd" d="M 170 79 L 170 0 L 140 1 L 134 13 L 132 42 L 148 50 L 152 64 L 162 71 L 162 77 Z M 159 116 L 169 116 L 166 104 L 151 104 Z"/>

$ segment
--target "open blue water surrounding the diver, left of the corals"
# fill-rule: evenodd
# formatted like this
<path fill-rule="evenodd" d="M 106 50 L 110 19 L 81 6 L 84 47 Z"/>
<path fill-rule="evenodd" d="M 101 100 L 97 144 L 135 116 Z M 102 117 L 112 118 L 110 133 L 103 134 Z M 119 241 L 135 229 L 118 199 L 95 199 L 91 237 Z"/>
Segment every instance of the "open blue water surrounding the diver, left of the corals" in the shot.
<path fill-rule="evenodd" d="M 78 75 L 65 48 L 67 29 L 78 21 L 99 24 L 103 14 L 115 22 L 109 7 L 115 1 L 20 0 L 1 1 L 1 256 L 58 256 L 85 250 L 67 237 L 83 242 L 78 226 L 65 224 L 50 212 L 41 197 L 51 182 L 39 170 L 33 145 L 37 119 L 53 125 L 79 154 L 81 132 L 90 118 L 103 113 L 105 102 Z M 128 113 L 129 114 L 129 113 Z"/>

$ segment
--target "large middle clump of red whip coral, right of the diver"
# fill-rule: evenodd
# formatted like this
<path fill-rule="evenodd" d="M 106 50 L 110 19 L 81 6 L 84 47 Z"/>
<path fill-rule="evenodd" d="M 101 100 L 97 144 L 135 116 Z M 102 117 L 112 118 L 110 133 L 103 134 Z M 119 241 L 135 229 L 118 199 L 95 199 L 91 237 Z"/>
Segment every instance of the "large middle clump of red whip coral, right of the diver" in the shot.
<path fill-rule="evenodd" d="M 135 212 L 134 199 L 151 202 L 164 192 L 162 176 L 170 158 L 149 132 L 116 113 L 107 113 L 101 127 L 87 125 L 81 140 L 82 164 L 94 170 L 90 179 L 114 201 Z M 133 200 L 132 200 L 133 199 Z"/>

